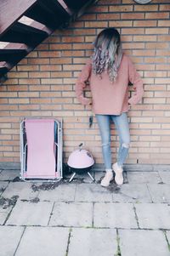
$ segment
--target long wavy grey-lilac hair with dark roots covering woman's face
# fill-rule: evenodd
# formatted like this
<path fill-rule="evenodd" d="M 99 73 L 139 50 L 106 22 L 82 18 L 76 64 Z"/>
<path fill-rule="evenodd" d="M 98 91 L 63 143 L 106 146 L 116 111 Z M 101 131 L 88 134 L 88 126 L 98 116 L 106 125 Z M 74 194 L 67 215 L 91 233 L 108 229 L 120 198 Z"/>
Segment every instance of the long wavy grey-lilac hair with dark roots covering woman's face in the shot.
<path fill-rule="evenodd" d="M 95 75 L 107 71 L 111 82 L 116 81 L 117 70 L 122 60 L 122 43 L 115 28 L 106 28 L 99 32 L 94 41 L 92 66 Z"/>

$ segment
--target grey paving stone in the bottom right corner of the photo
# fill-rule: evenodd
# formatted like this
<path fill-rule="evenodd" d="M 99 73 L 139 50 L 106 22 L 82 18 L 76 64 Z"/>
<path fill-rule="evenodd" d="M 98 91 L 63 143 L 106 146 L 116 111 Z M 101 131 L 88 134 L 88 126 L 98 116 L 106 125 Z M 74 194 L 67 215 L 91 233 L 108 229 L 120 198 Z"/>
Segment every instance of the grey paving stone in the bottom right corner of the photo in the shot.
<path fill-rule="evenodd" d="M 119 230 L 122 256 L 169 256 L 161 230 Z"/>

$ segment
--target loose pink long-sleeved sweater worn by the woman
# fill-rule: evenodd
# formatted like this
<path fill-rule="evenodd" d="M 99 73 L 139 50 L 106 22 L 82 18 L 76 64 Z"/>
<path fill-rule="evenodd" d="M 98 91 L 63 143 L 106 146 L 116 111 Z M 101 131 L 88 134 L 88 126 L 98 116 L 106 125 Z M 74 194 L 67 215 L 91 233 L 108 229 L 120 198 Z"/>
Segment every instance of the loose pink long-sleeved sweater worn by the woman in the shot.
<path fill-rule="evenodd" d="M 89 105 L 90 99 L 83 96 L 83 89 L 89 82 L 92 92 L 92 108 L 95 114 L 120 115 L 129 110 L 129 105 L 137 104 L 143 94 L 143 82 L 136 71 L 133 62 L 126 55 L 122 55 L 116 82 L 110 82 L 107 72 L 102 77 L 94 75 L 92 71 L 92 60 L 82 68 L 77 79 L 76 94 L 82 105 Z M 128 99 L 128 83 L 133 84 L 135 93 Z"/>

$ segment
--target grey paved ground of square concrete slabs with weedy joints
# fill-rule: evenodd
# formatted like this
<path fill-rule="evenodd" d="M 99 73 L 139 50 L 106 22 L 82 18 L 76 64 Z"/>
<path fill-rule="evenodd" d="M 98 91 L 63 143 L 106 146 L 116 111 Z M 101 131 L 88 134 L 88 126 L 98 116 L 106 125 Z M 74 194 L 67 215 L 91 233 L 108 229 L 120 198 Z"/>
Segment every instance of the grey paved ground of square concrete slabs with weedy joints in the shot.
<path fill-rule="evenodd" d="M 22 182 L 0 171 L 0 256 L 170 255 L 170 172 L 128 172 L 103 188 Z"/>

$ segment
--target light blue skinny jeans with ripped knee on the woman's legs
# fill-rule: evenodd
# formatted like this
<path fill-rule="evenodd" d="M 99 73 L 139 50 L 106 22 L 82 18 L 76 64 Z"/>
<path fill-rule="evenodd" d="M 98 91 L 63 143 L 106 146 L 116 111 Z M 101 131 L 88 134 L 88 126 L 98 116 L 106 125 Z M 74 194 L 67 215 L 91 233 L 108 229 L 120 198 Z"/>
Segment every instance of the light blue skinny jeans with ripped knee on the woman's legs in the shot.
<path fill-rule="evenodd" d="M 115 123 L 117 133 L 119 135 L 119 151 L 117 157 L 118 166 L 123 165 L 127 158 L 130 134 L 127 120 L 127 113 L 123 112 L 121 115 L 95 115 L 99 131 L 102 139 L 102 153 L 105 162 L 105 169 L 111 169 L 111 129 L 110 120 Z"/>

